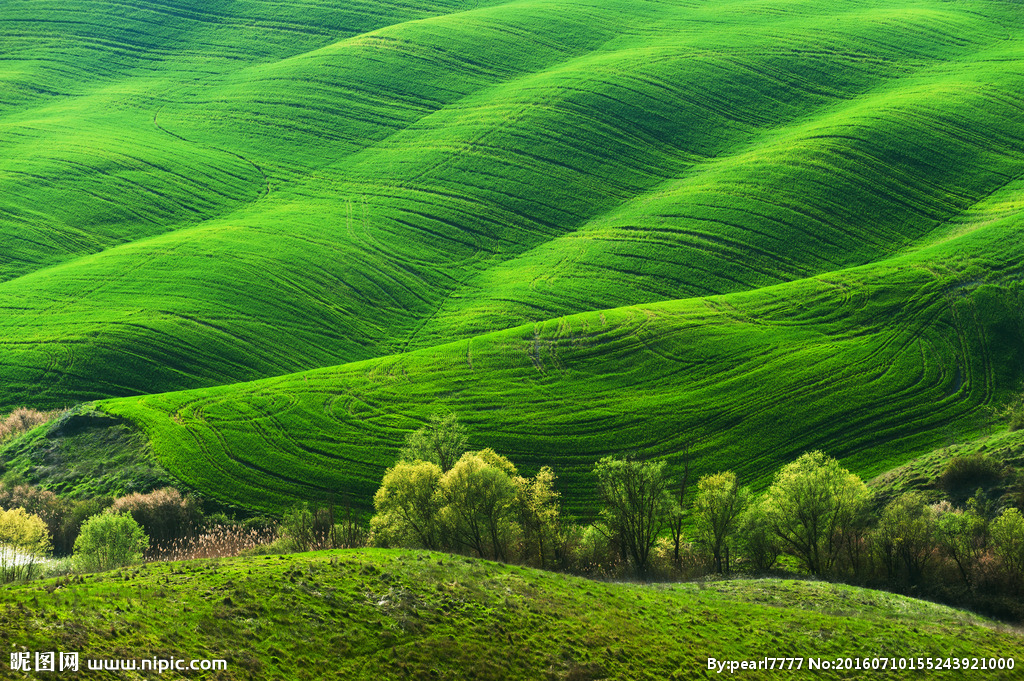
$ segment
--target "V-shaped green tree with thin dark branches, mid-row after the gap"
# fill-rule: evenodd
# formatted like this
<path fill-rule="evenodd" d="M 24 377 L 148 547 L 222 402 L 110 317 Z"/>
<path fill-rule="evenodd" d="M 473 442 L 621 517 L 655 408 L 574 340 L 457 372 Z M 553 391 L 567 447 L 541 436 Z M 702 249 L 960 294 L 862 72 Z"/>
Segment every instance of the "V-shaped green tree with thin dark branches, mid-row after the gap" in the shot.
<path fill-rule="evenodd" d="M 670 480 L 664 461 L 604 457 L 594 466 L 601 515 L 641 579 L 647 577 L 650 550 L 668 525 L 672 510 Z"/>

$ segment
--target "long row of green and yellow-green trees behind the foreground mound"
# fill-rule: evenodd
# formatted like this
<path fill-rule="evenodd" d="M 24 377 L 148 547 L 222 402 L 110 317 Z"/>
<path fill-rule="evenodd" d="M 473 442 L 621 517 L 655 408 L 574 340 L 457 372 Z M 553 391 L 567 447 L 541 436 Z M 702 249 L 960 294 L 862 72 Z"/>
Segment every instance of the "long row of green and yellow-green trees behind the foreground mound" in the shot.
<path fill-rule="evenodd" d="M 664 461 L 606 457 L 594 467 L 601 511 L 584 526 L 562 515 L 551 468 L 524 477 L 493 450 L 458 454 L 465 442 L 452 416 L 410 436 L 375 497 L 374 542 L 641 579 L 782 566 L 938 597 L 953 583 L 974 595 L 1024 589 L 1019 509 L 929 504 L 919 493 L 880 506 L 821 452 L 757 496 L 731 471 L 689 488 L 688 466 L 679 479 Z"/>

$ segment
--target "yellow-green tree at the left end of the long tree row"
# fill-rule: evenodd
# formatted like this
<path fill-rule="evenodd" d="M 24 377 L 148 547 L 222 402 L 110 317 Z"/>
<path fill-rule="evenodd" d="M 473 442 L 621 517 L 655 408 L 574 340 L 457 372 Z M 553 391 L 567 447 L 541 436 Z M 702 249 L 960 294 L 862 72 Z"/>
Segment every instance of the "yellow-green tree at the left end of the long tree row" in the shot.
<path fill-rule="evenodd" d="M 399 461 L 384 473 L 374 495 L 370 526 L 378 543 L 441 548 L 438 485 L 441 469 L 431 461 Z"/>

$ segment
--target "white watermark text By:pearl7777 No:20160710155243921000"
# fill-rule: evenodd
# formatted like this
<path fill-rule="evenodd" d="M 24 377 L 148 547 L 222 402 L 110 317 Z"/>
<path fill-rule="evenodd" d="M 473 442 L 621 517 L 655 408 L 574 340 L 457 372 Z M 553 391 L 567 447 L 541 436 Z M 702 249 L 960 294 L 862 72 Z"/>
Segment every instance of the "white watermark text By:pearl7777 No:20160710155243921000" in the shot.
<path fill-rule="evenodd" d="M 908 672 L 945 671 L 1000 671 L 1012 670 L 1016 666 L 1013 657 L 761 657 L 758 659 L 716 659 L 708 658 L 708 671 L 722 674 L 728 672 L 769 671 L 860 671 L 885 672 L 900 670 Z"/>

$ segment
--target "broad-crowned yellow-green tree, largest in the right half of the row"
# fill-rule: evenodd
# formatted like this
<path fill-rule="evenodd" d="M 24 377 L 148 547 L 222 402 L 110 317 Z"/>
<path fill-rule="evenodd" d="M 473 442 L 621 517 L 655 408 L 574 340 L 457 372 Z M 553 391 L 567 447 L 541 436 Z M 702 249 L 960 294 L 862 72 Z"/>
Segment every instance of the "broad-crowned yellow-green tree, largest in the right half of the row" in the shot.
<path fill-rule="evenodd" d="M 843 530 L 859 523 L 869 494 L 859 477 L 821 452 L 808 452 L 775 475 L 764 499 L 765 521 L 782 548 L 811 574 L 828 574 Z"/>

